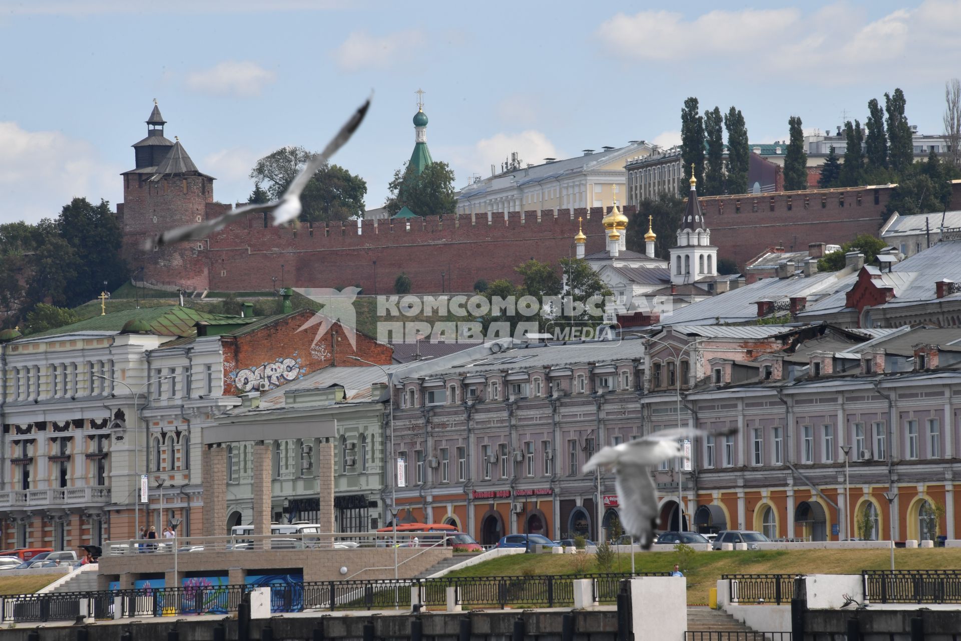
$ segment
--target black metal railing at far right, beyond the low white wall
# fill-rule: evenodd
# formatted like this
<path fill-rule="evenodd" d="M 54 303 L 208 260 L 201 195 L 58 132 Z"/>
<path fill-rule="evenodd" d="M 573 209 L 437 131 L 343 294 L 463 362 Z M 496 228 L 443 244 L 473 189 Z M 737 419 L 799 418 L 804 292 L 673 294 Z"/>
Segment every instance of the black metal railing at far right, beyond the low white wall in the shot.
<path fill-rule="evenodd" d="M 877 604 L 961 604 L 959 570 L 865 570 L 864 597 Z"/>

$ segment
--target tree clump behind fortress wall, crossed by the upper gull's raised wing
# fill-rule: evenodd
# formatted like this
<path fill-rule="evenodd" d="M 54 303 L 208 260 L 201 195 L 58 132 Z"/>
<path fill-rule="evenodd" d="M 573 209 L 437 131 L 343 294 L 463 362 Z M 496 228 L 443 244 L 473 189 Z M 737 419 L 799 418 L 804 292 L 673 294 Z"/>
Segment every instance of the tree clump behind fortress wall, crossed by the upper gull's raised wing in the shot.
<path fill-rule="evenodd" d="M 263 194 L 270 199 L 280 198 L 312 157 L 313 154 L 304 147 L 282 147 L 258 160 L 250 172 L 255 185 L 251 199 L 263 198 Z M 300 218 L 306 221 L 344 221 L 363 217 L 366 193 L 367 183 L 362 178 L 338 165 L 325 164 L 304 187 L 301 195 L 304 212 Z"/>

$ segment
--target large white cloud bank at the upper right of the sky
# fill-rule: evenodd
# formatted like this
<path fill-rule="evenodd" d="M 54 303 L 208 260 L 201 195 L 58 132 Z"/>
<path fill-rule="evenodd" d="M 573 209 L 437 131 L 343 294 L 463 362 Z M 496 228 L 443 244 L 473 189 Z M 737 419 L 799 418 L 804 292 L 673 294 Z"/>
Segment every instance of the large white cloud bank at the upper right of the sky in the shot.
<path fill-rule="evenodd" d="M 868 8 L 835 2 L 814 12 L 794 8 L 618 13 L 595 33 L 608 54 L 627 63 L 658 61 L 674 72 L 697 64 L 738 69 L 755 79 L 850 85 L 939 80 L 957 75 L 961 0 L 925 0 L 877 19 Z"/>

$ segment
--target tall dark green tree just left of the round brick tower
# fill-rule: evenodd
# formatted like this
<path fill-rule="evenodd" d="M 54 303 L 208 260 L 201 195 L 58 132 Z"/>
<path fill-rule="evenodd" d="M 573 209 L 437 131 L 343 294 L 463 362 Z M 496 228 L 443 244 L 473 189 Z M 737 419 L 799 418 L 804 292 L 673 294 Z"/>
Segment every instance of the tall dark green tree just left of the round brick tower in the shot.
<path fill-rule="evenodd" d="M 107 201 L 93 205 L 86 198 L 74 198 L 63 206 L 56 227 L 73 249 L 72 267 L 62 257 L 64 273 L 72 271 L 73 275 L 64 291 L 67 307 L 85 303 L 105 286 L 110 291 L 127 280 L 127 265 L 120 256 L 123 234 Z"/>

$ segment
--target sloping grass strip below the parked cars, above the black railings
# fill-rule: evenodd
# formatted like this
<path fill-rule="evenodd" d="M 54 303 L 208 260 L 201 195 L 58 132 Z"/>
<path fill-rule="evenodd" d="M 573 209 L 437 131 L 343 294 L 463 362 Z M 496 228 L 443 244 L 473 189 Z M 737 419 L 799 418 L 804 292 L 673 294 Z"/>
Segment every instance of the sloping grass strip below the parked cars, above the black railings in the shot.
<path fill-rule="evenodd" d="M 676 552 L 634 555 L 637 572 L 668 572 L 680 561 Z M 583 564 L 583 567 L 579 567 Z M 889 550 L 772 550 L 765 552 L 696 552 L 681 566 L 687 577 L 687 603 L 706 604 L 707 591 L 726 574 L 860 574 L 861 570 L 887 570 Z M 961 569 L 961 549 L 896 550 L 899 570 Z M 576 555 L 510 555 L 452 572 L 447 577 L 505 577 L 518 575 L 570 575 L 603 572 L 593 555 L 584 562 Z M 630 555 L 617 555 L 610 572 L 630 572 Z"/>

